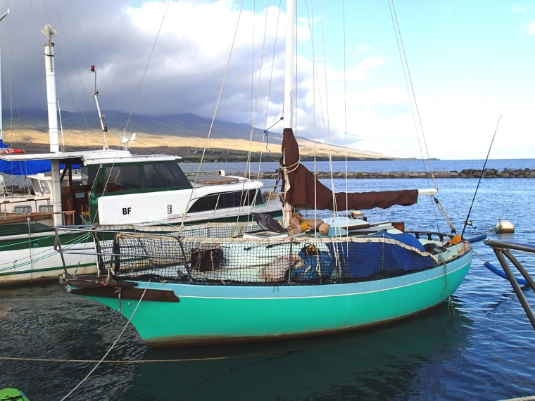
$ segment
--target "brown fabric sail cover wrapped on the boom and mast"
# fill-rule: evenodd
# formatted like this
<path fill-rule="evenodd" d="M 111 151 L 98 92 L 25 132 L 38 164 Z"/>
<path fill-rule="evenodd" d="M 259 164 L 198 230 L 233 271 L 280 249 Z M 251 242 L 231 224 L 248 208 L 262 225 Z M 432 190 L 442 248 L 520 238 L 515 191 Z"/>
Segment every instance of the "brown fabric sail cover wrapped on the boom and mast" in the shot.
<path fill-rule="evenodd" d="M 305 166 L 299 164 L 299 147 L 291 128 L 284 128 L 282 137 L 282 154 L 280 165 L 286 165 L 289 170 L 288 182 L 290 189 L 282 202 L 288 202 L 296 208 L 328 209 L 334 210 L 367 210 L 372 208 L 390 208 L 392 205 L 413 205 L 418 200 L 418 190 L 379 192 L 338 192 L 332 191 L 316 180 L 314 174 Z M 282 191 L 285 188 L 284 175 L 282 178 Z M 316 196 L 315 196 L 316 195 Z M 334 204 L 333 204 L 334 201 Z"/>

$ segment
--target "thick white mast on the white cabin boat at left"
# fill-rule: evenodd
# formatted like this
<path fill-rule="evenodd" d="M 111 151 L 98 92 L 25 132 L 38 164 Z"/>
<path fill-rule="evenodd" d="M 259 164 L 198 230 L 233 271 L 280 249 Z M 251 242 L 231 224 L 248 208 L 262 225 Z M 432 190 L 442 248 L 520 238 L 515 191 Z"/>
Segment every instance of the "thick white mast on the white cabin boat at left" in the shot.
<path fill-rule="evenodd" d="M 44 72 L 46 77 L 46 104 L 49 111 L 49 141 L 50 152 L 59 153 L 59 132 L 58 132 L 58 103 L 56 98 L 56 70 L 54 68 L 54 44 L 52 42 L 53 35 L 56 30 L 50 24 L 44 25 L 41 30 L 46 39 L 49 39 L 44 44 Z M 51 160 L 51 178 L 52 178 L 52 208 L 53 208 L 53 223 L 54 225 L 63 224 L 61 216 L 61 175 L 59 168 L 59 160 Z"/>

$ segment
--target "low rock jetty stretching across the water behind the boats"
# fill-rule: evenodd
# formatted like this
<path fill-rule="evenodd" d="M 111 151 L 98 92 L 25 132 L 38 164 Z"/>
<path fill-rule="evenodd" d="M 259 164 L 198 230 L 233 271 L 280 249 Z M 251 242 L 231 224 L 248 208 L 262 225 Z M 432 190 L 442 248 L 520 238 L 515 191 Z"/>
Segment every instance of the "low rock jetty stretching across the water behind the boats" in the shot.
<path fill-rule="evenodd" d="M 263 172 L 263 179 L 277 178 L 279 172 Z M 190 174 L 188 174 L 190 175 Z M 227 172 L 226 175 L 244 176 L 244 172 Z M 317 172 L 318 178 L 330 178 L 329 172 Z M 345 172 L 334 172 L 333 178 L 346 178 Z M 535 170 L 529 168 L 515 169 L 505 168 L 502 171 L 486 168 L 483 170 L 465 169 L 458 171 L 438 171 L 434 172 L 435 178 L 535 178 Z M 388 171 L 388 172 L 347 172 L 347 178 L 432 178 L 431 172 L 408 172 L 408 171 Z"/>

